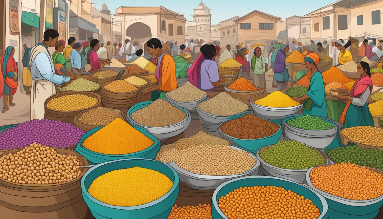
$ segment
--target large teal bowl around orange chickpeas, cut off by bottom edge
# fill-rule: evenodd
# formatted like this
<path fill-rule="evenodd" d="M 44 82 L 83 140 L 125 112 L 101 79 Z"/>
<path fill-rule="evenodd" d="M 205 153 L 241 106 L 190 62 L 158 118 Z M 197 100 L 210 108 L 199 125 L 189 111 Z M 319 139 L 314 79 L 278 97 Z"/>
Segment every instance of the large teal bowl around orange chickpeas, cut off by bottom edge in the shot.
<path fill-rule="evenodd" d="M 304 196 L 304 198 L 308 198 L 313 201 L 321 212 L 318 219 L 327 219 L 327 202 L 319 193 L 313 191 L 313 189 L 306 185 L 301 185 L 287 179 L 281 179 L 273 176 L 244 176 L 222 183 L 213 193 L 211 201 L 211 214 L 213 219 L 228 219 L 223 214 L 221 209 L 219 209 L 218 199 L 234 189 L 244 186 L 280 186 L 286 190 L 291 190 L 301 196 Z"/>

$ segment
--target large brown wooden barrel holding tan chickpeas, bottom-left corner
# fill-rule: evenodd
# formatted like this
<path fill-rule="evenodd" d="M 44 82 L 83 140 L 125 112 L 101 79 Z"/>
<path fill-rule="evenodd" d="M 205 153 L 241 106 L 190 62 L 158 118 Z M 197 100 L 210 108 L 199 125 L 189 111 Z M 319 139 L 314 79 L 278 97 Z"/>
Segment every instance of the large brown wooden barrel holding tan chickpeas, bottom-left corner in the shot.
<path fill-rule="evenodd" d="M 83 166 L 88 161 L 75 151 L 54 148 L 57 153 L 73 155 Z M 21 149 L 8 150 L 2 155 Z M 57 184 L 18 184 L 0 178 L 0 212 L 3 218 L 28 219 L 83 219 L 88 207 L 82 199 L 81 178 L 87 168 L 80 168 L 81 175 L 69 182 Z"/>

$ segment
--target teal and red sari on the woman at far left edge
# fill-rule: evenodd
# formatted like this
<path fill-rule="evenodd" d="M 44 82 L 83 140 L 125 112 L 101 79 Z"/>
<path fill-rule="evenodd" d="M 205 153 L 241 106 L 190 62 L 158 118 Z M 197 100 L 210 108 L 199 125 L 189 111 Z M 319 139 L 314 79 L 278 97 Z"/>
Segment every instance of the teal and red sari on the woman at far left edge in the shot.
<path fill-rule="evenodd" d="M 13 56 L 11 57 L 12 49 L 13 46 L 8 46 L 0 58 L 2 72 L 2 77 L 0 77 L 0 97 L 2 97 L 3 94 L 9 95 L 10 89 L 12 89 L 12 95 L 16 94 L 18 82 L 17 78 L 12 78 L 17 76 L 17 66 Z"/>

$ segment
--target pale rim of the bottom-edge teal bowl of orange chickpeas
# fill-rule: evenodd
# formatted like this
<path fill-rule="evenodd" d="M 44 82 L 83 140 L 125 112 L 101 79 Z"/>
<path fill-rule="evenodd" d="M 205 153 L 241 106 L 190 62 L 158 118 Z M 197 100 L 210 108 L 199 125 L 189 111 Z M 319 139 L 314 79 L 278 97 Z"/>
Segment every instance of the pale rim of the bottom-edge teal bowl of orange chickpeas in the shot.
<path fill-rule="evenodd" d="M 263 178 L 267 178 L 267 179 L 274 179 L 274 180 L 277 180 L 277 181 L 286 181 L 288 183 L 294 183 L 294 184 L 297 184 L 299 186 L 302 186 L 304 187 L 305 189 L 308 189 L 309 191 L 311 191 L 312 193 L 314 193 L 318 198 L 319 200 L 321 201 L 321 204 L 322 204 L 322 212 L 321 212 L 321 216 L 322 215 L 326 215 L 327 212 L 328 212 L 328 204 L 327 204 L 327 201 L 326 199 L 320 194 L 318 193 L 317 191 L 314 191 L 314 189 L 310 188 L 309 186 L 305 185 L 305 184 L 299 184 L 299 183 L 296 183 L 294 181 L 291 181 L 291 180 L 288 180 L 288 179 L 283 179 L 283 178 L 279 178 L 279 177 L 275 177 L 275 176 L 243 176 L 243 177 L 240 177 L 240 178 L 236 178 L 236 179 L 231 179 L 229 181 L 226 181 L 224 183 L 222 183 L 221 185 L 219 185 L 215 190 L 214 190 L 214 193 L 213 193 L 213 196 L 212 196 L 212 206 L 211 208 L 213 209 L 216 209 L 216 211 L 218 212 L 219 216 L 221 216 L 222 218 L 224 219 L 228 219 L 228 217 L 226 217 L 223 212 L 221 211 L 221 209 L 219 209 L 219 206 L 218 206 L 218 192 L 226 185 L 234 182 L 234 181 L 240 181 L 242 179 L 249 179 L 249 178 L 254 178 L 254 179 L 263 179 Z M 254 181 L 254 184 L 256 185 L 257 182 Z M 320 217 L 321 219 L 323 217 Z"/>

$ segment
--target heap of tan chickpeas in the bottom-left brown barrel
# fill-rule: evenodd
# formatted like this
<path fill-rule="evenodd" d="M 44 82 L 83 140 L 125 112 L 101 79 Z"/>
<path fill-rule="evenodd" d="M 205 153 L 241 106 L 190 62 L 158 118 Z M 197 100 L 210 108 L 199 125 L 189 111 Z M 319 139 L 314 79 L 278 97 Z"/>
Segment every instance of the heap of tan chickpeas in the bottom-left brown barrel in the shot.
<path fill-rule="evenodd" d="M 77 156 L 61 155 L 36 142 L 0 158 L 0 178 L 20 184 L 56 184 L 81 175 Z"/>

